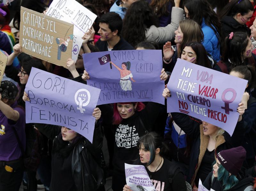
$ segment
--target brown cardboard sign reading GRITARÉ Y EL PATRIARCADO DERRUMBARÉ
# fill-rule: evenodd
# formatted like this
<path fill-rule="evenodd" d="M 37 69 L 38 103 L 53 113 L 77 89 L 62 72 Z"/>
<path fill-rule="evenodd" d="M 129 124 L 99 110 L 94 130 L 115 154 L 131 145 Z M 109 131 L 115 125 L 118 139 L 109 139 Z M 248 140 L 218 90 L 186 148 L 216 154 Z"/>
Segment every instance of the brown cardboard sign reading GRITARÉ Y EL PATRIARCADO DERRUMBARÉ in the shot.
<path fill-rule="evenodd" d="M 66 67 L 71 58 L 73 38 L 73 24 L 21 7 L 20 45 L 23 52 Z"/>

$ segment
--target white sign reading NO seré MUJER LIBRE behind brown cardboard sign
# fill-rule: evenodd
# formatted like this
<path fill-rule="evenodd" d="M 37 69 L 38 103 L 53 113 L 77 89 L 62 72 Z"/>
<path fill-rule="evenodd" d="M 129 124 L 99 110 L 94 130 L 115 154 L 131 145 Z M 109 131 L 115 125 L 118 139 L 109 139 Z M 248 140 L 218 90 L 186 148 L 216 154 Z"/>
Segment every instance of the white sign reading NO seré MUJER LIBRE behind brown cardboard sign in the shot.
<path fill-rule="evenodd" d="M 76 0 L 53 0 L 46 14 L 74 24 L 72 59 L 76 61 L 83 43 L 82 36 L 92 27 L 97 15 Z"/>

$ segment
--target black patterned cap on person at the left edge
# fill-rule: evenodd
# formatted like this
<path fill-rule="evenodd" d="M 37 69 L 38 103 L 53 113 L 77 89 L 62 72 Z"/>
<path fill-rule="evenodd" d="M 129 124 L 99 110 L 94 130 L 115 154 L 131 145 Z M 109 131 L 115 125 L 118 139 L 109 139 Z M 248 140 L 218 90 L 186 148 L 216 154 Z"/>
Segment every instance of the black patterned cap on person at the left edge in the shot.
<path fill-rule="evenodd" d="M 19 90 L 11 81 L 4 80 L 1 82 L 0 94 L 6 99 L 15 99 Z"/>

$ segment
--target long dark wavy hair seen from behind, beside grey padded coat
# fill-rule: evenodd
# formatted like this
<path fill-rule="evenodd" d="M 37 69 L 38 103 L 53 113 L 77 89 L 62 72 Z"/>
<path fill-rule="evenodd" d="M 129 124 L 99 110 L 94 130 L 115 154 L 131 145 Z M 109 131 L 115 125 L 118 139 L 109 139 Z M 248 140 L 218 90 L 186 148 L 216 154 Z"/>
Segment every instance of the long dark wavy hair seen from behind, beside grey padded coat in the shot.
<path fill-rule="evenodd" d="M 157 25 L 156 17 L 147 1 L 139 0 L 128 8 L 124 20 L 122 35 L 133 47 L 145 41 L 146 28 Z"/>

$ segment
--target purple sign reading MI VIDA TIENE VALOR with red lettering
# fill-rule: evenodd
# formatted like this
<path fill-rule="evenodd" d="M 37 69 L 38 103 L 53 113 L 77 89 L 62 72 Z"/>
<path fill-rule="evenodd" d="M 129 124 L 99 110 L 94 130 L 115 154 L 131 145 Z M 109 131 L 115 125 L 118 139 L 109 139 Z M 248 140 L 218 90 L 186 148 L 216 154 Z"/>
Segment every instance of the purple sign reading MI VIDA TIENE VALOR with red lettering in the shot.
<path fill-rule="evenodd" d="M 247 80 L 178 59 L 167 84 L 172 94 L 167 111 L 201 119 L 231 136 L 246 85 Z"/>

